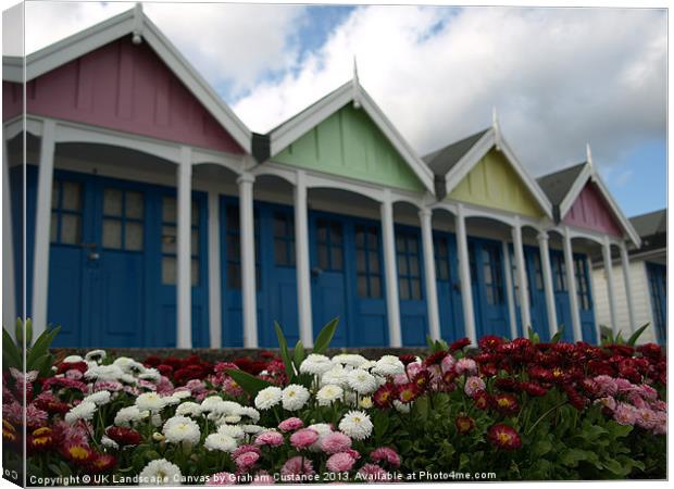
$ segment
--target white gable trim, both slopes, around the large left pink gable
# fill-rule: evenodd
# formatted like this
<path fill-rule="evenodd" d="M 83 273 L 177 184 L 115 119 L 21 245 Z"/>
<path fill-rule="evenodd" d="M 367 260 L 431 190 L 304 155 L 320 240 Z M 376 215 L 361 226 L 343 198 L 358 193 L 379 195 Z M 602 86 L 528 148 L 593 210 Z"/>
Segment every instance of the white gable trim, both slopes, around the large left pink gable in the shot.
<path fill-rule="evenodd" d="M 26 58 L 26 82 L 30 82 L 123 36 L 138 34 L 138 32 L 234 140 L 250 153 L 251 131 L 171 43 L 168 38 L 138 8 L 115 15 L 29 54 Z M 14 58 L 3 58 L 3 79 L 23 83 L 22 59 L 18 58 L 18 60 L 17 63 Z"/>

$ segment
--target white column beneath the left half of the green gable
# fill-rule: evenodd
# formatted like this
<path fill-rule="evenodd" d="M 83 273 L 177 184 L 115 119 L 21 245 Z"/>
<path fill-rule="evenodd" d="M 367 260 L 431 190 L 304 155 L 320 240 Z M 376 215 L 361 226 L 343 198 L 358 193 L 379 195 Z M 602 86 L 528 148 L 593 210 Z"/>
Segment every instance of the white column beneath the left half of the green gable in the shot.
<path fill-rule="evenodd" d="M 304 172 L 297 173 L 295 185 L 295 266 L 300 339 L 313 347 L 311 317 L 311 271 L 309 265 L 309 225 L 307 223 L 307 183 Z"/>

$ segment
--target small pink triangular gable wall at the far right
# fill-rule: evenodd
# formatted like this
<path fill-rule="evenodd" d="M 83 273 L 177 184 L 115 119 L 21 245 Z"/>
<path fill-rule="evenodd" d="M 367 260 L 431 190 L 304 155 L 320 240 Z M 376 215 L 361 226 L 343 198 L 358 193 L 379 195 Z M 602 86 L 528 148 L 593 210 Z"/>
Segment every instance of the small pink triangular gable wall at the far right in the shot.
<path fill-rule="evenodd" d="M 570 226 L 622 236 L 621 227 L 613 217 L 613 211 L 590 181 L 581 191 L 562 222 Z"/>

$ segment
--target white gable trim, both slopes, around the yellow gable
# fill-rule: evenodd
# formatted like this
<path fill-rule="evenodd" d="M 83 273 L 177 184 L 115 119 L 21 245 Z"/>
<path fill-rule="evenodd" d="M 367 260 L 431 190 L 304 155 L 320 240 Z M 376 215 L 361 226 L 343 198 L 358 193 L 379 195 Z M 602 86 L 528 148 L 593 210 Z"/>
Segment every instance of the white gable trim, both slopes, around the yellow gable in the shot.
<path fill-rule="evenodd" d="M 475 167 L 475 165 L 495 147 L 498 147 L 503 153 L 510 165 L 513 167 L 517 176 L 524 181 L 528 190 L 536 199 L 536 202 L 544 210 L 546 215 L 552 218 L 552 204 L 538 186 L 536 180 L 522 166 L 514 152 L 502 137 L 498 138 L 494 128 L 487 130 L 473 147 L 459 160 L 459 162 L 445 176 L 447 195 L 465 178 L 465 176 Z"/>

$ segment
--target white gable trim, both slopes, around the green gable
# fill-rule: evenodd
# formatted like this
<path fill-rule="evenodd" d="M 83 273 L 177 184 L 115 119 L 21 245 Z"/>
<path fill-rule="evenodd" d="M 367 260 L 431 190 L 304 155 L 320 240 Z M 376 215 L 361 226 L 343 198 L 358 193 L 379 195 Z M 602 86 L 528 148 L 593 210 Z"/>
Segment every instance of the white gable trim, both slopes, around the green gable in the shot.
<path fill-rule="evenodd" d="M 414 152 L 367 92 L 354 82 L 344 84 L 327 97 L 319 100 L 309 109 L 272 130 L 270 134 L 271 156 L 277 155 L 351 101 L 358 101 L 360 108 L 367 113 L 379 130 L 384 133 L 388 141 L 396 148 L 420 181 L 426 187 L 426 190 L 435 192 L 434 177 L 430 168 Z"/>

